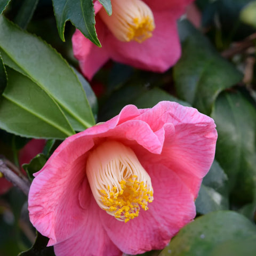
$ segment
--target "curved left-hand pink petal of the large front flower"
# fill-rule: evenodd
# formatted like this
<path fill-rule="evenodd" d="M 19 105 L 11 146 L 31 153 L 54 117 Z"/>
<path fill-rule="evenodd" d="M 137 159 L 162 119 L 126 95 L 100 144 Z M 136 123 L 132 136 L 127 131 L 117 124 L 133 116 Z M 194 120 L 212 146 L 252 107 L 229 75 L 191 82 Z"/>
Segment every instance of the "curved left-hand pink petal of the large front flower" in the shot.
<path fill-rule="evenodd" d="M 49 245 L 72 236 L 86 218 L 78 195 L 79 190 L 86 189 L 81 188 L 86 179 L 84 154 L 92 146 L 93 141 L 88 138 L 69 137 L 36 174 L 30 187 L 30 221 L 41 234 L 51 238 Z"/>

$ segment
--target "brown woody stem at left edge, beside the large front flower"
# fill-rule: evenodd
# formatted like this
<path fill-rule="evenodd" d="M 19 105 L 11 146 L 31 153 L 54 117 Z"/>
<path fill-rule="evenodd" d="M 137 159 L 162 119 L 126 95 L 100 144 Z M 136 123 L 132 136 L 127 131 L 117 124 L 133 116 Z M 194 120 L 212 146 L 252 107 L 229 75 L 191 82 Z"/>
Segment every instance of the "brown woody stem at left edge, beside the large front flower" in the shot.
<path fill-rule="evenodd" d="M 17 186 L 25 195 L 28 195 L 29 185 L 27 182 L 9 169 L 2 159 L 0 159 L 0 172 L 3 173 L 4 177 L 11 181 L 14 186 Z"/>

